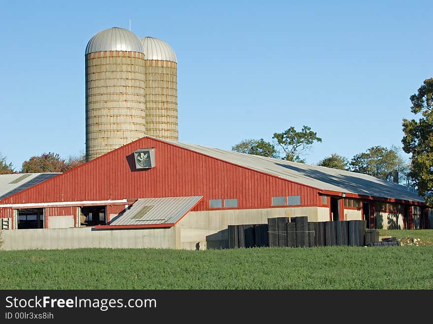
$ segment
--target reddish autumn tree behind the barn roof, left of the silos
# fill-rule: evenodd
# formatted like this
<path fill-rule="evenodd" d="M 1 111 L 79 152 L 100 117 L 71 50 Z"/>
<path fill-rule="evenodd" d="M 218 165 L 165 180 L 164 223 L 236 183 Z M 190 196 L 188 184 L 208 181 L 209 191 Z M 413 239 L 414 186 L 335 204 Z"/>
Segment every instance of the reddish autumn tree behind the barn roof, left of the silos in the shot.
<path fill-rule="evenodd" d="M 59 154 L 52 152 L 43 153 L 38 156 L 32 156 L 28 161 L 24 161 L 22 173 L 40 173 L 40 172 L 64 172 L 66 163 Z"/>

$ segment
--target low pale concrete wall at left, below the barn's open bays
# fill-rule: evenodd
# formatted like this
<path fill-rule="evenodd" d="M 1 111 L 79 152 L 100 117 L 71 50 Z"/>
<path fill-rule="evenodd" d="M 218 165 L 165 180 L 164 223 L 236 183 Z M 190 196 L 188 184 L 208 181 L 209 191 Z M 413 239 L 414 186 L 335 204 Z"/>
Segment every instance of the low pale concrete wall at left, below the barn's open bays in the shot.
<path fill-rule="evenodd" d="M 98 230 L 92 227 L 1 231 L 1 250 L 101 248 L 179 248 L 175 227 Z"/>

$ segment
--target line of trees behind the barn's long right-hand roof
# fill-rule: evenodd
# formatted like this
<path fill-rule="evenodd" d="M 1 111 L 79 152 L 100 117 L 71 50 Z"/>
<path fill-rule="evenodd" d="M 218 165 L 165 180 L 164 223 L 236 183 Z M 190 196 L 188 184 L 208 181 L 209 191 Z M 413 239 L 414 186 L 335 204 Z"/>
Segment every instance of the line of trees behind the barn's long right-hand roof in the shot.
<path fill-rule="evenodd" d="M 352 171 L 392 181 L 394 171 L 399 172 L 399 182 L 417 187 L 418 193 L 433 205 L 433 78 L 424 81 L 417 93 L 410 96 L 410 111 L 418 120 L 402 120 L 404 136 L 402 149 L 411 154 L 406 162 L 398 147 L 374 146 L 353 156 L 352 159 L 332 153 L 318 165 Z M 305 163 L 302 155 L 322 139 L 309 126 L 297 131 L 293 126 L 274 133 L 273 143 L 263 138 L 246 139 L 232 147 L 233 151 Z"/>

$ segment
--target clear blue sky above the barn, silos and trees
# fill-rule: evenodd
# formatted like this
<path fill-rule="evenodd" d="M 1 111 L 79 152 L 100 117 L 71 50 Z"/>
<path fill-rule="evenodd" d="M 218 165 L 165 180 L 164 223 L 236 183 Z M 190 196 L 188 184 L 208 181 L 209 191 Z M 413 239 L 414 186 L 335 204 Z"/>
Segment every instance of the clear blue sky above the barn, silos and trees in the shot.
<path fill-rule="evenodd" d="M 39 3 L 40 2 L 40 3 Z M 356 2 L 356 3 L 351 3 Z M 129 28 L 178 59 L 179 140 L 230 149 L 308 125 L 317 163 L 401 146 L 409 96 L 433 77 L 433 1 L 4 1 L 0 153 L 85 148 L 84 50 Z"/>

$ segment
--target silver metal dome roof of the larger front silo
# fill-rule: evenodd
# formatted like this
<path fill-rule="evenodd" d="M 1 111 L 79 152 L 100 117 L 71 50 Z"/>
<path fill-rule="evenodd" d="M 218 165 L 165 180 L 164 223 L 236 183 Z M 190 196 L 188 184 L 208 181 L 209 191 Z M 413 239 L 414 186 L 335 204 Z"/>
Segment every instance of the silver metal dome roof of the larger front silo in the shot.
<path fill-rule="evenodd" d="M 86 46 L 86 55 L 105 51 L 144 53 L 144 48 L 140 39 L 133 32 L 113 27 L 96 33 Z"/>

